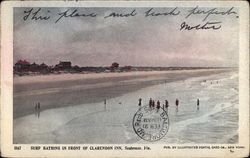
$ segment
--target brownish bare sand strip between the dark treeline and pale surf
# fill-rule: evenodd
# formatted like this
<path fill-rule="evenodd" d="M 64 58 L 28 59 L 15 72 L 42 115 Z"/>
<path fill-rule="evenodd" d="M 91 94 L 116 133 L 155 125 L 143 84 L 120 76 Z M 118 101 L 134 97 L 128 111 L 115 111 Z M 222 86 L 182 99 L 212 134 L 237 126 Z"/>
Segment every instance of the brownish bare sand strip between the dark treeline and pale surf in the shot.
<path fill-rule="evenodd" d="M 205 69 L 16 77 L 13 87 L 13 117 L 18 118 L 34 113 L 37 102 L 40 102 L 41 110 L 97 103 L 164 82 L 227 71 L 232 70 Z"/>

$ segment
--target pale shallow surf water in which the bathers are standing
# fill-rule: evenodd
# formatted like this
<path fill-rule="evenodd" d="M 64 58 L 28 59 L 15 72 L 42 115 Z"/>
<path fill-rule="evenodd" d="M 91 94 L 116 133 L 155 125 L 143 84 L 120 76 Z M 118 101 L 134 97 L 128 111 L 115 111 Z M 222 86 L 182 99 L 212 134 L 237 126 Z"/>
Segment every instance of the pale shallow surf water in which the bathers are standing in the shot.
<path fill-rule="evenodd" d="M 152 97 L 160 101 L 168 99 L 170 103 L 171 128 L 159 143 L 237 143 L 237 77 L 236 71 L 190 77 L 108 99 L 107 109 L 103 103 L 79 104 L 45 110 L 40 118 L 33 114 L 17 118 L 14 119 L 14 142 L 144 144 L 146 142 L 134 133 L 131 122 L 138 110 L 138 97 L 142 98 L 143 105 Z M 173 104 L 176 97 L 180 99 L 178 113 Z M 201 101 L 199 110 L 194 104 L 196 98 Z M 75 137 L 67 137 L 71 134 Z M 209 138 L 205 142 L 201 139 L 204 135 Z"/>

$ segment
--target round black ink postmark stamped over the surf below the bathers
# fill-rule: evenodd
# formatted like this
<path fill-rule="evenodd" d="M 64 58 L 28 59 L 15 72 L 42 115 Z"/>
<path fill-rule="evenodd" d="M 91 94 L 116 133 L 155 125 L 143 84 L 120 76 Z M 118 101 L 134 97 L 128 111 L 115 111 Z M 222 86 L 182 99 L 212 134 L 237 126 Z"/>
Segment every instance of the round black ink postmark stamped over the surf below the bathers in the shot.
<path fill-rule="evenodd" d="M 134 115 L 135 133 L 146 141 L 157 141 L 163 138 L 169 127 L 168 114 L 162 108 L 141 107 Z"/>

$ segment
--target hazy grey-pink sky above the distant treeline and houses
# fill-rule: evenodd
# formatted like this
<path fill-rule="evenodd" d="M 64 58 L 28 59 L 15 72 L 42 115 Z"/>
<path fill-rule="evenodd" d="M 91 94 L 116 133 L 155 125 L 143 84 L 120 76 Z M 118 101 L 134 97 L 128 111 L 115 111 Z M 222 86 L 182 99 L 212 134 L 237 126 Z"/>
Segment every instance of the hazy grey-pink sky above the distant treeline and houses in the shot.
<path fill-rule="evenodd" d="M 205 24 L 202 15 L 185 18 L 190 8 L 178 8 L 178 16 L 147 18 L 144 13 L 150 8 L 136 8 L 137 15 L 127 18 L 103 17 L 112 12 L 130 13 L 135 8 L 77 8 L 79 13 L 98 15 L 62 18 L 57 23 L 58 13 L 69 8 L 42 8 L 39 15 L 50 16 L 49 20 L 25 21 L 24 11 L 29 9 L 14 9 L 14 62 L 25 59 L 48 65 L 71 61 L 78 66 L 110 66 L 113 62 L 121 66 L 238 66 L 239 28 L 235 15 L 207 18 L 210 22 L 221 21 L 221 29 L 187 31 L 180 30 L 184 21 L 192 26 Z"/>

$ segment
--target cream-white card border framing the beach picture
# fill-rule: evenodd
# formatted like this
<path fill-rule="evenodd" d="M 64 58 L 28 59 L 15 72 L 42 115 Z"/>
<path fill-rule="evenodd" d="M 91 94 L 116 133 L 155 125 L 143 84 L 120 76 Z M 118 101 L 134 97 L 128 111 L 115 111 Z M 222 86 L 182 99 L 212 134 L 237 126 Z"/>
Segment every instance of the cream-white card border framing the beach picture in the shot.
<path fill-rule="evenodd" d="M 31 151 L 23 144 L 21 151 L 13 150 L 13 7 L 237 7 L 240 24 L 239 58 L 239 144 L 245 149 L 230 153 L 228 150 L 164 150 L 162 144 L 149 145 L 151 151 Z M 244 157 L 249 154 L 249 8 L 247 2 L 188 1 L 188 2 L 2 2 L 1 5 L 1 152 L 4 157 Z M 40 144 L 41 145 L 41 144 Z M 63 144 L 60 144 L 62 146 Z M 79 144 L 83 146 L 83 144 Z M 85 144 L 92 145 L 93 144 Z M 98 144 L 96 144 L 98 145 Z M 99 144 L 105 145 L 105 144 Z M 110 144 L 107 144 L 110 145 Z M 119 144 L 121 145 L 121 144 Z M 126 144 L 128 146 L 128 144 Z M 170 145 L 170 144 L 165 144 Z M 180 145 L 180 144 L 171 144 Z M 185 144 L 188 145 L 188 144 Z M 194 145 L 194 144 L 190 144 Z M 201 144 L 199 144 L 201 145 Z M 213 145 L 213 144 L 206 144 Z M 216 144 L 218 146 L 225 144 Z M 49 146 L 48 144 L 46 146 Z M 162 149 L 162 150 L 161 150 Z M 204 154 L 204 155 L 203 155 Z"/>

